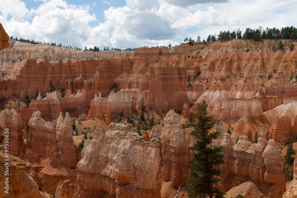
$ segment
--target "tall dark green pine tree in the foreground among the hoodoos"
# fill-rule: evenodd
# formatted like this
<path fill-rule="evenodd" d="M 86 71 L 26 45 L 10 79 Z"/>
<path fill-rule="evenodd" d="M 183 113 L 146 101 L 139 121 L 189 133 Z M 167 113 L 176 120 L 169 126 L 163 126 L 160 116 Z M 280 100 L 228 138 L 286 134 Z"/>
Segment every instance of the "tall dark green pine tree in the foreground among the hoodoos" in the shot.
<path fill-rule="evenodd" d="M 206 101 L 203 100 L 203 103 L 197 107 L 198 113 L 194 114 L 198 123 L 193 124 L 194 130 L 191 134 L 196 143 L 190 148 L 196 152 L 188 165 L 191 168 L 192 179 L 187 180 L 186 190 L 189 197 L 220 198 L 225 192 L 215 188 L 213 184 L 218 180 L 214 176 L 220 175 L 220 171 L 216 167 L 224 162 L 224 156 L 221 154 L 223 146 L 210 147 L 210 144 L 221 132 L 209 133 L 215 120 L 211 116 L 207 116 L 206 108 Z"/>

